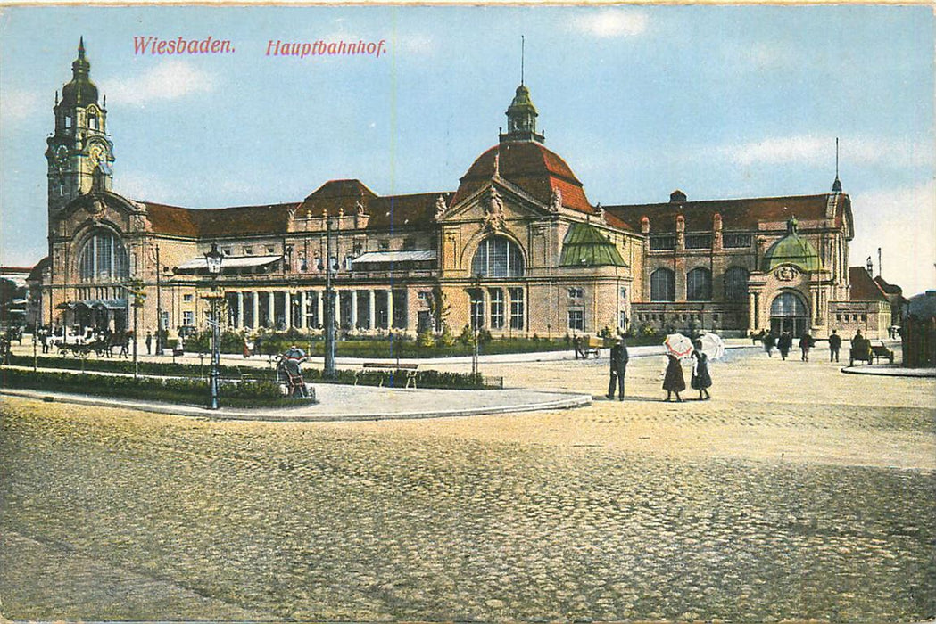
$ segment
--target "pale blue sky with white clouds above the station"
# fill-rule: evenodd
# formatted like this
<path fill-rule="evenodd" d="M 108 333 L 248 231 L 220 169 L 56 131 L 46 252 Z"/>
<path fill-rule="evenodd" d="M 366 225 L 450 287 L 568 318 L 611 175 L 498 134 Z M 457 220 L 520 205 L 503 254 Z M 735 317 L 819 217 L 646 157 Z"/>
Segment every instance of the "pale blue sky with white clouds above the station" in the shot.
<path fill-rule="evenodd" d="M 930 7 L 0 7 L 0 263 L 46 254 L 45 139 L 80 36 L 107 95 L 114 190 L 191 208 L 357 178 L 454 191 L 523 81 L 592 203 L 852 198 L 853 266 L 936 287 Z M 136 53 L 134 37 L 229 40 Z M 379 56 L 271 41 L 386 42 Z M 876 270 L 876 268 L 875 268 Z"/>

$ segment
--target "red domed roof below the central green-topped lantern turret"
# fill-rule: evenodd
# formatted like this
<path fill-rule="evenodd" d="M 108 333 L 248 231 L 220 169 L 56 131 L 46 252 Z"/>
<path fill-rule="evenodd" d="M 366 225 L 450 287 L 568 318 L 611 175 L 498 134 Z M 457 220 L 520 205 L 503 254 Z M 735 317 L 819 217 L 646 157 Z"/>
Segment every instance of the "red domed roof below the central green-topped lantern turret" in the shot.
<path fill-rule="evenodd" d="M 494 157 L 498 156 L 500 176 L 517 184 L 544 204 L 552 192 L 563 195 L 563 206 L 580 212 L 593 212 L 582 183 L 561 156 L 534 141 L 507 141 L 495 145 L 477 157 L 468 172 L 461 177 L 453 203 L 457 203 L 484 186 L 494 176 Z"/>

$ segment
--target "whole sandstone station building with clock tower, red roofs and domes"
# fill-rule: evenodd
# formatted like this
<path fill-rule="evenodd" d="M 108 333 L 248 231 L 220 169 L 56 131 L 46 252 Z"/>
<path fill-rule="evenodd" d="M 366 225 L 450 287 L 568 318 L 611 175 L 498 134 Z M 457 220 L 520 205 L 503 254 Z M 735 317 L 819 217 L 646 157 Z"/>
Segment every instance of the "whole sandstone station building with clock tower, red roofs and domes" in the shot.
<path fill-rule="evenodd" d="M 522 84 L 508 132 L 454 192 L 379 196 L 337 180 L 301 200 L 196 210 L 115 192 L 83 45 L 72 69 L 46 152 L 44 324 L 123 329 L 136 279 L 141 331 L 157 327 L 157 310 L 170 334 L 204 327 L 212 289 L 232 329 L 315 330 L 329 267 L 337 323 L 362 333 L 444 322 L 505 336 L 784 324 L 822 335 L 833 302 L 848 299 L 853 225 L 838 180 L 819 196 L 690 202 L 678 191 L 664 204 L 594 205 L 545 147 Z M 215 280 L 212 245 L 225 255 Z"/>

